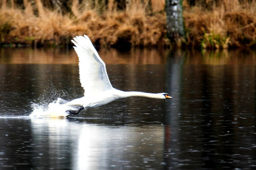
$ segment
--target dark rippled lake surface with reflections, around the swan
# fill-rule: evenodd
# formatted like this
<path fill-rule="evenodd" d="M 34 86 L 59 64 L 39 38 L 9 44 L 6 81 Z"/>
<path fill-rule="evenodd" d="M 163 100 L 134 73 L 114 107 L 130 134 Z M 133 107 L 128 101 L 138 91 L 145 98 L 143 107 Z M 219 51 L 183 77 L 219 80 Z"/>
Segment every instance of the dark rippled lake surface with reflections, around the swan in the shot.
<path fill-rule="evenodd" d="M 113 87 L 167 92 L 72 118 L 33 104 L 83 95 L 73 50 L 0 48 L 0 169 L 254 169 L 256 52 L 100 50 Z"/>

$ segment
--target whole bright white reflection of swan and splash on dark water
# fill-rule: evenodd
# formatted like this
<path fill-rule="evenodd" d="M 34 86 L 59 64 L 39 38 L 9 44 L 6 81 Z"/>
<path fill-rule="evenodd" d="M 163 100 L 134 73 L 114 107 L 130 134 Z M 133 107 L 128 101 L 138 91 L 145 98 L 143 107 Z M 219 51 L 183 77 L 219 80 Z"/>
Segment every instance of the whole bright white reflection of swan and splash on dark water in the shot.
<path fill-rule="evenodd" d="M 85 120 L 32 119 L 38 167 L 72 169 L 158 168 L 163 126 L 97 125 Z"/>

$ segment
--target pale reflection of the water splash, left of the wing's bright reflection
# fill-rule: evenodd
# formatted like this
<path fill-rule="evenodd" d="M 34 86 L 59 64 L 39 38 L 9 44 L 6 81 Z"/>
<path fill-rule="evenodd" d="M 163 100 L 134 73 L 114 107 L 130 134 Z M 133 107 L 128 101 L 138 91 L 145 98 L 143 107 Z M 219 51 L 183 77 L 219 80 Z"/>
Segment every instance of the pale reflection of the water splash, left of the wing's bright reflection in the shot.
<path fill-rule="evenodd" d="M 31 119 L 35 143 L 36 167 L 62 169 L 71 166 L 72 151 L 77 147 L 79 126 L 67 119 Z"/>

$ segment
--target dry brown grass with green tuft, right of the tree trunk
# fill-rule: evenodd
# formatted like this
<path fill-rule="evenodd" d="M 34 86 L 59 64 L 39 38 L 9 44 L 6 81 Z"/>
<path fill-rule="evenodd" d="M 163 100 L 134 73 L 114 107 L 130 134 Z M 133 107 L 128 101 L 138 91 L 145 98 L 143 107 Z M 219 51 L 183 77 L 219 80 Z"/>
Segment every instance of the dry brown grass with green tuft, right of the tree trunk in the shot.
<path fill-rule="evenodd" d="M 209 1 L 210 2 L 210 1 Z M 203 48 L 255 46 L 256 1 L 224 0 L 212 10 L 196 5 L 188 7 L 184 0 L 184 23 L 187 44 Z"/>

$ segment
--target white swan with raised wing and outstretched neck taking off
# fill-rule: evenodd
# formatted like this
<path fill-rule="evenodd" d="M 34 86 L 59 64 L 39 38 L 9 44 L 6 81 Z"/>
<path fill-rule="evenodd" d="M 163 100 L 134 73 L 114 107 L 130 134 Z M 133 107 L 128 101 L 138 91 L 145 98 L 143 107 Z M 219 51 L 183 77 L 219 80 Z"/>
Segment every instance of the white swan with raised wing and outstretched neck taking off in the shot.
<path fill-rule="evenodd" d="M 79 58 L 80 83 L 84 89 L 84 96 L 66 103 L 66 106 L 80 106 L 78 110 L 68 110 L 69 115 L 76 115 L 84 108 L 98 107 L 114 100 L 142 96 L 155 99 L 171 99 L 167 93 L 146 93 L 138 91 L 121 91 L 112 87 L 106 66 L 95 50 L 87 35 L 76 36 L 71 40 Z M 68 115 L 68 116 L 69 116 Z"/>

